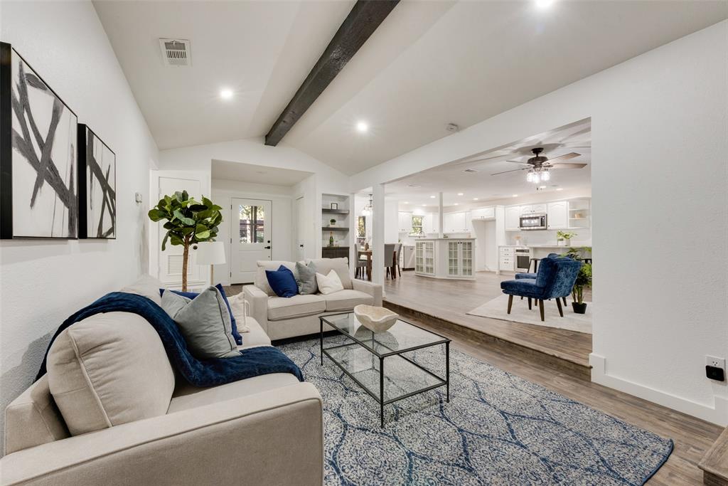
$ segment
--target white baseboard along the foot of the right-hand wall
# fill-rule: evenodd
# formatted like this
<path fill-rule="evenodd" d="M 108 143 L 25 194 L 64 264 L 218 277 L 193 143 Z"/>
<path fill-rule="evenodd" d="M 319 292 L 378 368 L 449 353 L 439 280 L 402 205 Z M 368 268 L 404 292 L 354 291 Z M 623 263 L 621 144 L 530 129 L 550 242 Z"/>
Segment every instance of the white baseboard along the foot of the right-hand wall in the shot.
<path fill-rule="evenodd" d="M 604 356 L 591 353 L 589 355 L 589 363 L 592 366 L 592 381 L 594 383 L 638 396 L 641 399 L 652 401 L 664 407 L 669 407 L 678 412 L 683 412 L 711 423 L 716 423 L 722 427 L 728 426 L 728 397 L 716 396 L 715 406 L 708 407 L 707 405 L 699 404 L 671 393 L 665 393 L 664 391 L 639 385 L 629 380 L 607 375 L 606 358 Z"/>

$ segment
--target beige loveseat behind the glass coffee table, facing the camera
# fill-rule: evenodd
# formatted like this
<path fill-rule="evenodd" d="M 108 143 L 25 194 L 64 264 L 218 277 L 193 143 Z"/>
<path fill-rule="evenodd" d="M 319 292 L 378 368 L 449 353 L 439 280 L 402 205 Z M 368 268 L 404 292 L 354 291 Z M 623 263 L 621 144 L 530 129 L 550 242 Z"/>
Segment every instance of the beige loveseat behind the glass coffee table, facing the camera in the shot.
<path fill-rule="evenodd" d="M 318 273 L 327 275 L 335 270 L 344 290 L 328 295 L 277 297 L 268 285 L 265 271 L 277 270 L 280 265 L 294 270 L 296 264 L 268 260 L 258 262 L 254 284 L 242 288 L 250 305 L 250 315 L 261 324 L 272 340 L 320 332 L 320 315 L 344 313 L 359 304 L 381 306 L 381 285 L 352 280 L 346 258 L 322 258 L 314 259 L 313 262 Z M 325 326 L 325 330 L 330 329 Z"/>

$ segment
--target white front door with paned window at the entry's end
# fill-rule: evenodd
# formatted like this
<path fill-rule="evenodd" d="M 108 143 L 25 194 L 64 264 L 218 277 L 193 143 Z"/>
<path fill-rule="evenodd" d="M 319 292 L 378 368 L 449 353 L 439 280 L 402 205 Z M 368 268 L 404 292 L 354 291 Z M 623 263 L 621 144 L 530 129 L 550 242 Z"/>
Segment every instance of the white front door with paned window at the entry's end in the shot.
<path fill-rule="evenodd" d="M 258 260 L 271 259 L 272 203 L 231 197 L 230 283 L 250 283 Z"/>

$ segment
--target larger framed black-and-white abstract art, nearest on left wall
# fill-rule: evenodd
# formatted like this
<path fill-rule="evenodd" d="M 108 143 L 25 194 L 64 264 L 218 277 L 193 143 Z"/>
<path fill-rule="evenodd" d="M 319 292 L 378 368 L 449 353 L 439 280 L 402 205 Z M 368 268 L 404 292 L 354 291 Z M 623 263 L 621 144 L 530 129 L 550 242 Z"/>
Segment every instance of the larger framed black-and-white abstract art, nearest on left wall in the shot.
<path fill-rule="evenodd" d="M 0 42 L 0 238 L 78 238 L 78 118 Z"/>

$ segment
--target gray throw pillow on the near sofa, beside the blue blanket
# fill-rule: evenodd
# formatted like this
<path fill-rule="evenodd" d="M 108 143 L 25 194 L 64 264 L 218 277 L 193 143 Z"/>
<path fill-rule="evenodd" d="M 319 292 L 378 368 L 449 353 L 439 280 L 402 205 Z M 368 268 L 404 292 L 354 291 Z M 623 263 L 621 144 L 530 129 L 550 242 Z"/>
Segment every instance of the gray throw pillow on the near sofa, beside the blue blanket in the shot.
<path fill-rule="evenodd" d="M 215 287 L 207 287 L 194 299 L 165 292 L 162 309 L 177 323 L 187 348 L 196 358 L 240 356 L 232 337 L 230 313 Z"/>

